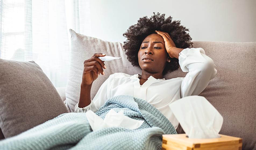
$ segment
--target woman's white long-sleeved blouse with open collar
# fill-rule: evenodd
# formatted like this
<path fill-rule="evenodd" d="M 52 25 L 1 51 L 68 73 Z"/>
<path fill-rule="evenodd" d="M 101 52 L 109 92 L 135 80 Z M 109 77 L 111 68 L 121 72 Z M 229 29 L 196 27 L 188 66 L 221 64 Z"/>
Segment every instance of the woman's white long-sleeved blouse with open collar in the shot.
<path fill-rule="evenodd" d="M 117 95 L 131 95 L 146 100 L 165 115 L 177 129 L 179 122 L 169 108 L 169 104 L 190 95 L 200 94 L 217 73 L 213 60 L 205 55 L 203 48 L 186 48 L 179 54 L 179 65 L 185 77 L 165 80 L 150 76 L 140 85 L 140 74 L 125 73 L 111 74 L 101 85 L 91 103 L 79 108 L 78 103 L 74 112 L 96 112 L 107 99 Z"/>

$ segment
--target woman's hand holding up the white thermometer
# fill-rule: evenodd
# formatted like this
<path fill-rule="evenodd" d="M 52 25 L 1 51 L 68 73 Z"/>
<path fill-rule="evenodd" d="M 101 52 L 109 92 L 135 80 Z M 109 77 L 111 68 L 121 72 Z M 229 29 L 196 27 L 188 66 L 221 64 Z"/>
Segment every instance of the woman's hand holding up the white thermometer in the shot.
<path fill-rule="evenodd" d="M 92 85 L 93 81 L 98 78 L 100 73 L 104 75 L 103 68 L 106 69 L 106 66 L 104 61 L 100 60 L 98 57 L 104 57 L 105 55 L 102 55 L 102 53 L 95 53 L 91 58 L 84 61 L 84 71 L 81 85 Z"/>

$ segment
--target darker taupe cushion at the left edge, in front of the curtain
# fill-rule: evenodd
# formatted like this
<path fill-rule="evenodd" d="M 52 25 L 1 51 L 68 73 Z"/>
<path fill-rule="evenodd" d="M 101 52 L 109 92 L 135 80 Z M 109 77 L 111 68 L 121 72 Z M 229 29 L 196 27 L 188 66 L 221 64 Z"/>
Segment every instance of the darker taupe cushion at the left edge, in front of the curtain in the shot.
<path fill-rule="evenodd" d="M 0 70 L 0 127 L 5 138 L 68 112 L 35 62 L 0 59 Z"/>

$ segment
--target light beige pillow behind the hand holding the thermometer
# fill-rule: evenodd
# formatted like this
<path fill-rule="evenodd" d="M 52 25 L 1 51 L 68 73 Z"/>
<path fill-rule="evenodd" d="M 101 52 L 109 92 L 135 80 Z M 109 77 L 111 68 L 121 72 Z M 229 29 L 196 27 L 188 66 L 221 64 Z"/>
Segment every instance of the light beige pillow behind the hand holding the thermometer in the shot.
<path fill-rule="evenodd" d="M 69 29 L 71 35 L 71 63 L 69 79 L 66 86 L 66 106 L 69 111 L 74 112 L 74 106 L 79 102 L 80 85 L 82 82 L 84 61 L 93 56 L 94 53 L 104 53 L 107 56 L 121 57 L 112 61 L 105 61 L 105 75 L 100 74 L 93 82 L 91 88 L 91 99 L 96 95 L 101 84 L 110 74 L 123 72 L 127 74 L 141 74 L 141 68 L 133 67 L 127 60 L 123 45 L 120 42 L 108 42 L 76 33 Z"/>

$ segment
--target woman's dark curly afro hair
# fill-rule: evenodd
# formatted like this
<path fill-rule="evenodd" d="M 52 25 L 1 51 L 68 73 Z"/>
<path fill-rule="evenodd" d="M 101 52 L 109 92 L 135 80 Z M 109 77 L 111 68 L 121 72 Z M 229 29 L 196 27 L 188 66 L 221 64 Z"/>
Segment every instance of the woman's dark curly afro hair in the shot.
<path fill-rule="evenodd" d="M 147 16 L 140 18 L 137 24 L 130 26 L 123 33 L 123 36 L 127 38 L 123 48 L 125 49 L 128 61 L 133 66 L 139 66 L 138 51 L 140 50 L 141 43 L 148 35 L 155 33 L 155 30 L 169 33 L 177 48 L 193 47 L 192 38 L 186 32 L 189 29 L 180 25 L 179 20 L 172 20 L 171 16 L 165 19 L 165 14 L 160 15 L 160 13 L 155 14 L 155 12 L 153 14 L 150 18 Z M 167 63 L 163 70 L 163 75 L 179 69 L 179 59 L 170 58 L 170 60 L 171 62 Z"/>

